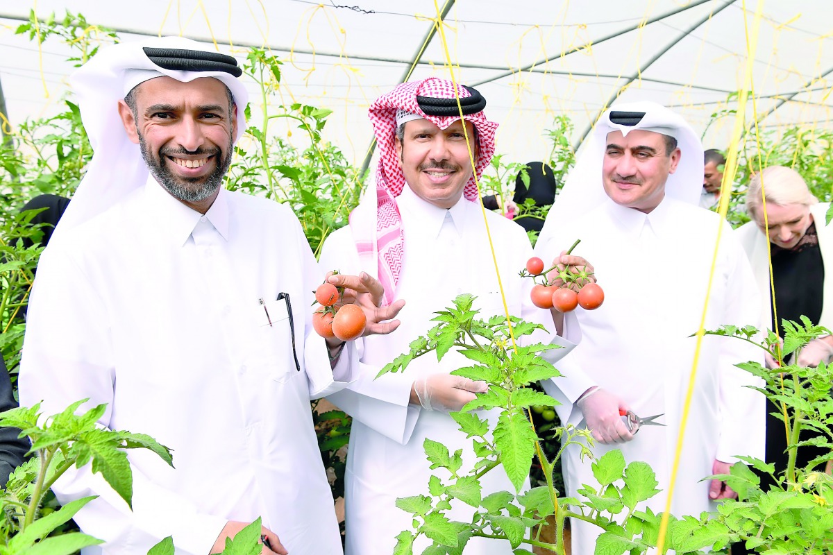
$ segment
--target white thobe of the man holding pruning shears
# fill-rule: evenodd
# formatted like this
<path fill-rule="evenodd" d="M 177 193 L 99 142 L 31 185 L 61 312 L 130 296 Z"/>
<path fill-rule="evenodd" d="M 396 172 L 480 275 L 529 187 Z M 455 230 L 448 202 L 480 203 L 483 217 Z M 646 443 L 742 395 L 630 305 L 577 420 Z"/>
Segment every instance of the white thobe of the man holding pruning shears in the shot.
<path fill-rule="evenodd" d="M 663 414 L 666 427 L 645 426 L 626 444 L 596 444 L 594 456 L 621 449 L 626 462 L 641 460 L 656 473 L 662 490 L 647 506 L 665 509 L 683 405 L 694 360 L 696 338 L 706 302 L 718 226 L 722 225 L 705 329 L 720 325 L 758 325 L 754 280 L 732 230 L 720 216 L 667 198 L 650 214 L 606 201 L 575 226 L 536 245 L 552 256 L 581 239 L 575 254 L 596 269 L 605 302 L 597 310 L 576 310 L 581 344 L 559 363 L 563 374 L 581 375 L 623 399 L 640 416 Z M 763 457 L 764 397 L 745 384 L 751 374 L 734 367 L 762 362 L 760 349 L 740 339 L 706 336 L 700 349 L 691 412 L 684 431 L 671 513 L 699 515 L 715 510 L 708 499 L 717 458 Z M 762 353 L 762 352 L 761 352 Z M 556 385 L 561 381 L 556 380 Z M 562 422 L 584 426 L 576 405 L 556 407 Z M 566 448 L 562 468 L 567 493 L 577 496 L 582 483 L 598 484 L 589 461 L 575 445 Z M 593 553 L 600 528 L 576 521 L 572 553 Z"/>

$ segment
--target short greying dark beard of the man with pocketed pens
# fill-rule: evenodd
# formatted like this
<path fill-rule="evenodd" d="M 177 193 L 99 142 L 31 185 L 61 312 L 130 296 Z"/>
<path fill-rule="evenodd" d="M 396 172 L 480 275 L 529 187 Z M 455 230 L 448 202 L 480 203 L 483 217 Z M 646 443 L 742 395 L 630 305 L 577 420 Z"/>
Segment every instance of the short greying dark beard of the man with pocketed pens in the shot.
<path fill-rule="evenodd" d="M 232 164 L 232 141 L 229 139 L 226 154 L 223 155 L 219 147 L 213 150 L 198 148 L 196 151 L 186 151 L 184 149 L 160 149 L 159 157 L 153 156 L 150 148 L 145 142 L 145 137 L 139 134 L 139 146 L 142 147 L 142 158 L 147 164 L 151 175 L 158 181 L 167 192 L 171 193 L 174 198 L 186 202 L 199 202 L 206 200 L 212 196 L 217 189 L 222 185 L 222 178 L 226 176 L 228 167 Z M 212 155 L 217 159 L 217 165 L 214 170 L 207 176 L 202 177 L 179 177 L 175 176 L 173 172 L 167 167 L 167 164 L 176 164 L 173 161 L 162 161 L 163 157 L 181 155 Z M 222 158 L 220 158 L 222 156 Z"/>

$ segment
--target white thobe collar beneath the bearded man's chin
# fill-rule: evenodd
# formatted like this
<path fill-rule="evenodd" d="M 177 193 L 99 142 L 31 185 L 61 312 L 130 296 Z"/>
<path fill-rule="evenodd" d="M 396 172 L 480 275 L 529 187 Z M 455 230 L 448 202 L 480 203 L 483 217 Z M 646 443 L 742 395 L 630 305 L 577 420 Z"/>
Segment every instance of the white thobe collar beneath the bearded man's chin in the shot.
<path fill-rule="evenodd" d="M 145 183 L 147 207 L 156 222 L 159 235 L 167 237 L 174 245 L 182 246 L 201 221 L 211 222 L 222 238 L 228 240 L 228 192 L 220 188 L 211 208 L 203 216 L 177 201 L 164 187 L 148 176 Z"/>

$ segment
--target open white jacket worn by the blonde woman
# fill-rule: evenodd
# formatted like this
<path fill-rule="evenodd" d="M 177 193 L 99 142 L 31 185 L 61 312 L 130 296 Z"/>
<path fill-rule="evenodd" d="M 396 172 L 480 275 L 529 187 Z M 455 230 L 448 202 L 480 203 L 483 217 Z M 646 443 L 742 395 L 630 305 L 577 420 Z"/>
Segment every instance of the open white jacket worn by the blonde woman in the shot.
<path fill-rule="evenodd" d="M 826 214 L 829 206 L 831 206 L 829 202 L 819 202 L 810 207 L 813 221 L 816 222 L 816 235 L 819 238 L 821 260 L 833 260 L 833 222 L 830 225 L 826 224 Z M 766 235 L 755 221 L 750 221 L 737 229 L 737 237 L 741 241 L 741 246 L 743 246 L 746 255 L 749 256 L 758 291 L 761 293 L 761 320 L 766 328 L 771 328 L 772 294 L 770 289 L 769 247 L 766 245 Z M 822 292 L 819 325 L 833 330 L 833 270 L 828 269 L 825 272 Z"/>

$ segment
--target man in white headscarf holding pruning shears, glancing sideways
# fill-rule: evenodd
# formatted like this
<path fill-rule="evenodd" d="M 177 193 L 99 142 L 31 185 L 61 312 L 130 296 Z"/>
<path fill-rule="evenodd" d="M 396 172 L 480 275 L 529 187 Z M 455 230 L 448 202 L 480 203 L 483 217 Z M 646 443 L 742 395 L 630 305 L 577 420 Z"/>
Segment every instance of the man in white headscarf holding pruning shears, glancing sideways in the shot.
<path fill-rule="evenodd" d="M 581 344 L 561 360 L 566 378 L 555 382 L 580 378 L 595 385 L 579 399 L 565 392 L 566 403 L 556 409 L 562 422 L 591 429 L 599 442 L 594 456 L 618 448 L 626 462 L 651 465 L 662 490 L 646 503 L 655 512 L 666 505 L 695 362 L 691 334 L 700 327 L 704 305 L 706 330 L 759 324 L 746 256 L 726 222 L 697 206 L 702 160 L 699 139 L 673 112 L 652 102 L 611 108 L 596 124 L 536 244 L 547 260 L 581 239 L 577 251 L 593 261 L 605 290 L 601 308 L 576 311 Z M 738 339 L 703 339 L 682 431 L 671 504 L 676 516 L 715 510 L 717 499 L 734 492 L 720 481 L 701 480 L 726 473 L 737 455 L 763 454 L 764 398 L 744 387 L 756 384 L 751 374 L 734 367 L 762 360 L 758 350 Z M 620 410 L 662 414 L 658 422 L 666 427 L 631 433 Z M 576 446 L 566 448 L 562 468 L 570 496 L 583 483 L 597 483 Z M 575 519 L 571 527 L 572 553 L 593 553 L 601 529 Z"/>

